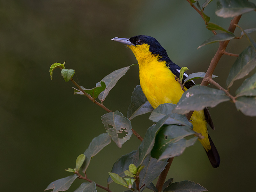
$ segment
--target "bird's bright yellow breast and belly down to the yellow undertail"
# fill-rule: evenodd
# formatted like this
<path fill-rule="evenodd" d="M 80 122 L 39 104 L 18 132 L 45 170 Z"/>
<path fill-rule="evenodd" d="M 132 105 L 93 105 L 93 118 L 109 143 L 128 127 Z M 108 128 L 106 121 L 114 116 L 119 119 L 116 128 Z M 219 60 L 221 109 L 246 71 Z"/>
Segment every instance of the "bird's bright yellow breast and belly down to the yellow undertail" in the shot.
<path fill-rule="evenodd" d="M 153 108 L 157 108 L 158 105 L 163 103 L 178 103 L 184 92 L 181 90 L 179 82 L 175 80 L 175 75 L 167 68 L 164 61 L 139 62 L 139 68 L 141 89 Z M 204 139 L 199 141 L 208 151 L 211 146 L 204 112 L 194 111 L 190 120 L 194 127 L 193 130 L 204 136 Z"/>

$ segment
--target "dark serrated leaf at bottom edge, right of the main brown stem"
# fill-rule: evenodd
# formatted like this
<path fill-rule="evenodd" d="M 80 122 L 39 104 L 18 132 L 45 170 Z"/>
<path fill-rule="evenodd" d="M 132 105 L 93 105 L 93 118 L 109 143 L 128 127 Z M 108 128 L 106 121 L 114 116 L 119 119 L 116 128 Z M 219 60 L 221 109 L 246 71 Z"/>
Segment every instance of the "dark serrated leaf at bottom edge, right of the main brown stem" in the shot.
<path fill-rule="evenodd" d="M 166 191 L 173 191 L 173 192 L 201 192 L 201 191 L 207 191 L 206 188 L 201 186 L 198 183 L 195 183 L 194 181 L 180 181 L 172 183 L 170 186 L 165 188 L 163 192 Z"/>

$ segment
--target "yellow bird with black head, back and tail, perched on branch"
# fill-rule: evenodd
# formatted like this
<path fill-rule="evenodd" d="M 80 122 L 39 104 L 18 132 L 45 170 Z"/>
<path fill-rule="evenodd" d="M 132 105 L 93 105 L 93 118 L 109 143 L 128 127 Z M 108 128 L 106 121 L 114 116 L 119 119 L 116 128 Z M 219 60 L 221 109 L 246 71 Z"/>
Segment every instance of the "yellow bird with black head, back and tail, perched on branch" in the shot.
<path fill-rule="evenodd" d="M 111 40 L 127 45 L 134 53 L 139 65 L 141 89 L 153 108 L 164 103 L 178 103 L 184 93 L 176 80 L 180 77 L 181 68 L 172 62 L 167 51 L 154 37 L 138 35 L 131 38 L 115 37 Z M 188 75 L 184 73 L 182 83 L 187 77 Z M 193 85 L 195 85 L 193 81 L 188 81 L 184 89 L 187 90 Z M 203 145 L 212 167 L 219 167 L 220 156 L 207 129 L 209 124 L 214 130 L 208 108 L 194 111 L 190 121 L 193 124 L 193 130 L 204 136 L 204 139 L 198 140 Z"/>

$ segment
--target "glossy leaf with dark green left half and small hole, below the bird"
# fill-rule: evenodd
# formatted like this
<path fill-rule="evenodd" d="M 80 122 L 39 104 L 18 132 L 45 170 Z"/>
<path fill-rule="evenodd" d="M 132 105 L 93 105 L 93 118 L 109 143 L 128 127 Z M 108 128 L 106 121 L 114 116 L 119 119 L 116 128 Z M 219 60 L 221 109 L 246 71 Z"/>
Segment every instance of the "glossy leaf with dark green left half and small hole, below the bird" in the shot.
<path fill-rule="evenodd" d="M 157 158 L 158 161 L 180 156 L 185 148 L 195 144 L 197 137 L 193 137 L 189 140 L 184 139 L 193 134 L 195 134 L 195 132 L 186 126 L 163 126 L 156 135 L 156 141 L 151 151 L 151 156 Z"/>

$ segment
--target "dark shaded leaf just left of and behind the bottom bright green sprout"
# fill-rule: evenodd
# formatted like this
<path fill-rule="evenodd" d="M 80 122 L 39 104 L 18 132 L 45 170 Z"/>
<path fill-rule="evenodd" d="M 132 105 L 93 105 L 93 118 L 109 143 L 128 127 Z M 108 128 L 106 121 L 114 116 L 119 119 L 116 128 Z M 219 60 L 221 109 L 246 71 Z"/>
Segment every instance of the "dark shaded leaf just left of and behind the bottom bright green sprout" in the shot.
<path fill-rule="evenodd" d="M 114 163 L 111 172 L 118 174 L 120 177 L 124 177 L 124 171 L 128 169 L 129 165 L 132 163 L 133 156 L 136 154 L 137 151 L 132 151 L 126 155 L 123 155 Z M 111 177 L 108 177 L 108 184 L 110 184 L 113 180 Z"/>

